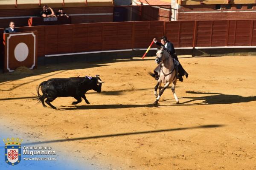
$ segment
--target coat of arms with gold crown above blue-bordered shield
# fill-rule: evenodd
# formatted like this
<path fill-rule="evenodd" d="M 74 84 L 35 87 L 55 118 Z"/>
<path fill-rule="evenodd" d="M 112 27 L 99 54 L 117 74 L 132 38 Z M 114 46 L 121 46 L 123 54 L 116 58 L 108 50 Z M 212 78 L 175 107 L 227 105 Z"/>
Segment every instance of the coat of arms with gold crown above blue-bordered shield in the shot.
<path fill-rule="evenodd" d="M 21 160 L 21 145 L 20 143 L 23 140 L 20 138 L 12 138 L 12 139 L 3 139 L 5 143 L 4 153 L 5 153 L 5 161 L 9 165 L 16 165 L 20 163 Z"/>

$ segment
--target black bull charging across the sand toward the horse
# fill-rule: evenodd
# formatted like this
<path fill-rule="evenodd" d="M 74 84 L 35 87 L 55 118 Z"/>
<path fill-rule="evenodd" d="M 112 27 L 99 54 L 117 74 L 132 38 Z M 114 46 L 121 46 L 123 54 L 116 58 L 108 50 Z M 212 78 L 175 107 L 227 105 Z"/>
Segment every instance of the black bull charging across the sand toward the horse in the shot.
<path fill-rule="evenodd" d="M 87 104 L 90 104 L 85 97 L 85 93 L 89 90 L 94 90 L 100 93 L 102 83 L 103 82 L 98 76 L 55 78 L 41 82 L 37 88 L 37 93 L 43 106 L 47 107 L 44 104 L 44 99 L 46 99 L 45 102 L 53 109 L 56 108 L 50 102 L 55 100 L 57 97 L 74 97 L 77 101 L 73 102 L 72 105 L 80 103 L 82 101 L 81 98 L 83 98 Z M 39 94 L 40 88 L 43 95 Z"/>

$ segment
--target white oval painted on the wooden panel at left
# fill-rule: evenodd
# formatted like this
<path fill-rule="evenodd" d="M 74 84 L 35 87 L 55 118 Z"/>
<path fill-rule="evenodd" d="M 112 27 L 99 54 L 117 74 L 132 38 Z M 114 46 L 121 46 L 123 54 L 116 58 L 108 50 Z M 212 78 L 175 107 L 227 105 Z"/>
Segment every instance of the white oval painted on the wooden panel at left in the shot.
<path fill-rule="evenodd" d="M 23 42 L 18 43 L 14 49 L 15 59 L 17 59 L 19 62 L 22 62 L 28 57 L 28 55 L 29 55 L 28 46 Z"/>

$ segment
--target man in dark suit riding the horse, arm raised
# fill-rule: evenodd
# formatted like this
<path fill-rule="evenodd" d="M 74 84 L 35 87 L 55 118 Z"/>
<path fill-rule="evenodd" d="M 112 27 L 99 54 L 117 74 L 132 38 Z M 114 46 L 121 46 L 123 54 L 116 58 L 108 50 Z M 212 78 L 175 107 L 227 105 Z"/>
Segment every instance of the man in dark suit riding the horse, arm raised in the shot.
<path fill-rule="evenodd" d="M 156 45 L 163 46 L 163 49 L 166 50 L 166 51 L 168 51 L 168 52 L 171 54 L 172 58 L 176 59 L 176 60 L 179 62 L 179 59 L 178 59 L 177 54 L 176 54 L 176 52 L 175 52 L 174 46 L 173 46 L 172 42 L 169 42 L 169 41 L 167 40 L 167 37 L 166 37 L 166 36 L 163 36 L 163 37 L 161 38 L 161 42 L 157 42 L 157 39 L 155 39 L 155 38 L 153 39 L 153 41 L 154 41 L 154 43 L 155 43 Z M 179 62 L 179 63 L 180 63 L 180 62 Z M 184 68 L 182 67 L 181 64 L 177 65 L 177 68 L 178 68 L 178 75 L 177 75 L 177 78 L 180 80 L 180 82 L 182 82 L 182 81 L 183 81 L 183 78 L 182 78 L 182 77 L 183 77 L 183 76 L 186 76 L 186 78 L 188 78 L 189 74 L 184 70 Z M 159 65 L 159 66 L 154 70 L 155 75 L 158 75 L 160 69 L 161 69 L 161 65 Z M 156 74 L 156 73 L 157 73 L 157 74 Z M 157 79 L 157 78 L 156 78 L 156 79 Z"/>

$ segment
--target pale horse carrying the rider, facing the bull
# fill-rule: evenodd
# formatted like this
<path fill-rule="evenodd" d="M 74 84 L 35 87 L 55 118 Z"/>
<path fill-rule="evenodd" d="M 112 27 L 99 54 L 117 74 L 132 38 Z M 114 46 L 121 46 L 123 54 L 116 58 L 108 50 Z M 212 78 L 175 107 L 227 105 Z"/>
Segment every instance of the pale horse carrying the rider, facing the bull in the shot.
<path fill-rule="evenodd" d="M 169 54 L 167 51 L 161 48 L 160 50 L 157 51 L 157 57 L 155 61 L 157 62 L 157 64 L 161 64 L 162 68 L 159 72 L 160 76 L 159 76 L 157 85 L 154 88 L 154 95 L 157 97 L 156 101 L 154 102 L 154 105 L 157 105 L 160 97 L 162 96 L 165 89 L 168 88 L 170 83 L 172 83 L 172 93 L 176 100 L 176 104 L 178 104 L 179 99 L 175 94 L 175 85 L 177 83 L 176 69 L 175 69 L 174 60 L 172 59 L 171 54 Z M 162 88 L 162 83 L 164 83 L 163 88 Z M 159 89 L 159 95 L 157 94 L 157 88 Z"/>

